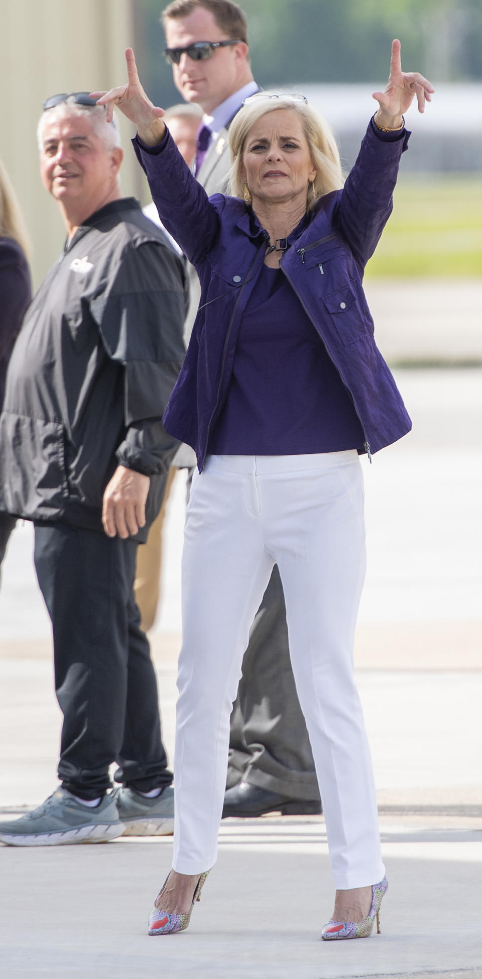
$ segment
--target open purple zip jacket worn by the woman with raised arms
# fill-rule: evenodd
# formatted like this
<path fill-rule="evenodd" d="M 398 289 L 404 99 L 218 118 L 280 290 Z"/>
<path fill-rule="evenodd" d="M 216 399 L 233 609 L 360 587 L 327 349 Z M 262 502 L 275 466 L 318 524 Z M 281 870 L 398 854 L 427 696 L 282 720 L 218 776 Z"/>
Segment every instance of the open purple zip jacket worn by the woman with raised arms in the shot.
<path fill-rule="evenodd" d="M 303 218 L 281 262 L 353 398 L 369 455 L 412 428 L 374 343 L 362 287 L 365 265 L 392 210 L 409 136 L 386 141 L 371 122 L 343 190 L 327 194 Z M 195 449 L 200 472 L 228 391 L 242 314 L 268 234 L 238 198 L 207 198 L 168 134 L 159 147 L 147 150 L 134 140 L 134 148 L 160 219 L 195 265 L 201 284 L 191 343 L 163 416 L 166 431 Z"/>

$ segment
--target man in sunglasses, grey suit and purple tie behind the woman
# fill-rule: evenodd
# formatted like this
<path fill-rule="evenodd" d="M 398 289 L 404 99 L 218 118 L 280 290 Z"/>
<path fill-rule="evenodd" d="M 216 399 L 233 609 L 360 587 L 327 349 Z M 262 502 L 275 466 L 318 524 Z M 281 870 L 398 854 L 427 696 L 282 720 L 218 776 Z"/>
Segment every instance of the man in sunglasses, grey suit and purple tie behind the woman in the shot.
<path fill-rule="evenodd" d="M 252 76 L 247 24 L 231 0 L 173 0 L 162 13 L 165 57 L 183 98 L 203 111 L 193 163 L 209 195 L 223 191 L 230 167 L 228 129 L 243 99 L 259 90 Z M 200 290 L 190 274 L 192 329 Z M 186 335 L 186 331 L 185 331 Z M 275 567 L 244 654 L 231 718 L 223 816 L 320 813 L 308 733 L 289 662 L 285 599 Z"/>

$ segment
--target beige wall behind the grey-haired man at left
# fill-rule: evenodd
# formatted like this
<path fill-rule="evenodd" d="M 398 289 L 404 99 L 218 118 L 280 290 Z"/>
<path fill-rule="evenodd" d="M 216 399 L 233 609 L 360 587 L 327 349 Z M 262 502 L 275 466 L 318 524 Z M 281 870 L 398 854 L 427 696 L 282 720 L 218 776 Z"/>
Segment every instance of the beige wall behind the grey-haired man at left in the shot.
<path fill-rule="evenodd" d="M 32 241 L 35 287 L 59 256 L 65 231 L 40 184 L 36 125 L 57 92 L 99 90 L 125 78 L 124 49 L 135 46 L 136 0 L 0 0 L 0 156 L 17 191 Z M 142 170 L 121 117 L 122 192 L 146 199 Z"/>

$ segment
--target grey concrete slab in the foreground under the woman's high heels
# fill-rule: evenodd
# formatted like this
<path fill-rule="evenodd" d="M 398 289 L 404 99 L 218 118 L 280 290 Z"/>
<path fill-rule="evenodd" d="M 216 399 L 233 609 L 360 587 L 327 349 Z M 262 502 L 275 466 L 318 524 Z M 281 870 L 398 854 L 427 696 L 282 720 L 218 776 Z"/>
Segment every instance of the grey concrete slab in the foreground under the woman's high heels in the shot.
<path fill-rule="evenodd" d="M 481 830 L 436 825 L 382 819 L 390 889 L 381 935 L 339 944 L 320 940 L 332 909 L 320 819 L 227 820 L 190 928 L 155 939 L 146 922 L 170 840 L 4 848 L 0 976 L 433 979 L 461 969 L 480 977 Z"/>

